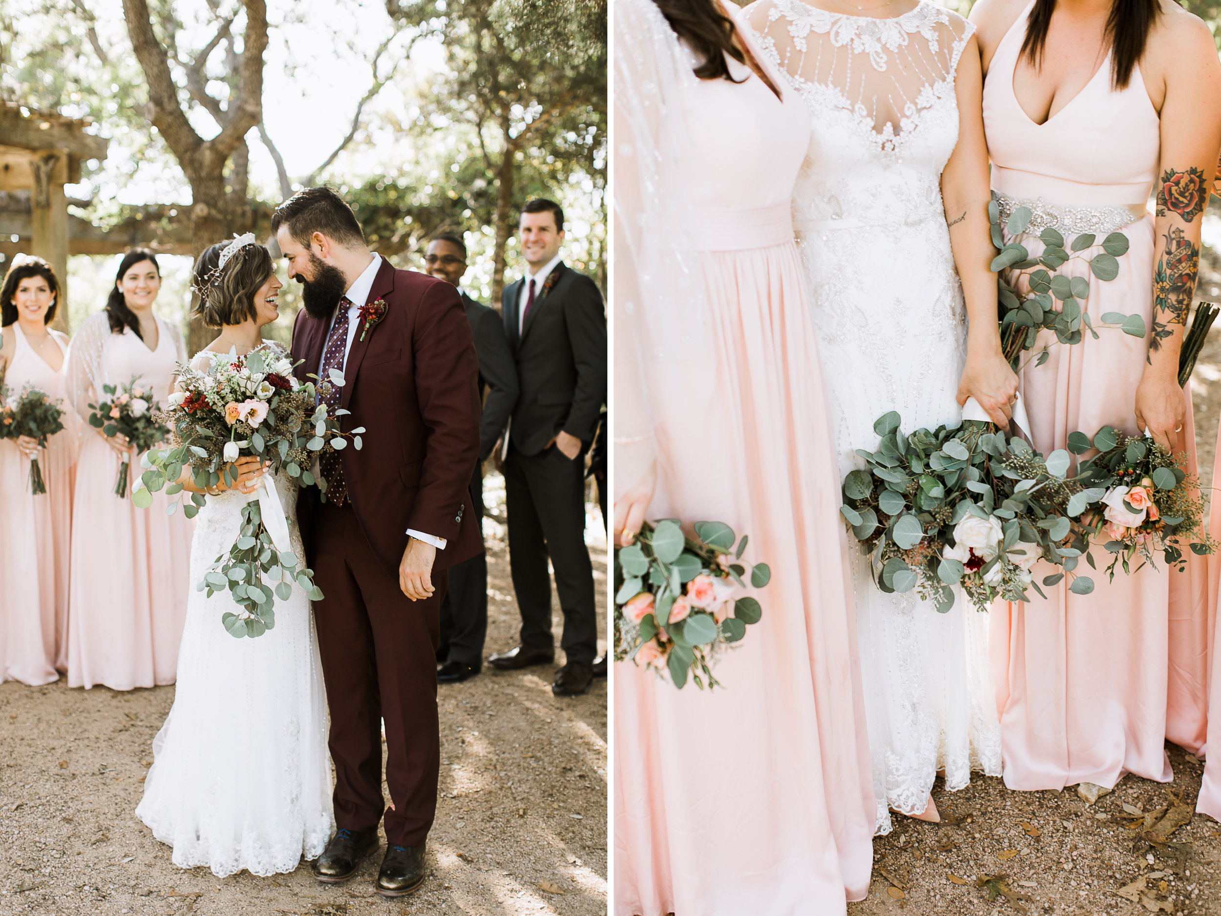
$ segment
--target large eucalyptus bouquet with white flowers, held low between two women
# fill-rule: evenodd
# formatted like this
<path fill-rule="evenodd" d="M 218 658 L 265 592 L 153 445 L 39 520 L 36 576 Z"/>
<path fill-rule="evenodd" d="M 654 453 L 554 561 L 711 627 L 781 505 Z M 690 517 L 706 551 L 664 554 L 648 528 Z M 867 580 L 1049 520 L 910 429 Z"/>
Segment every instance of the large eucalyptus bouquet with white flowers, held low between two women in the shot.
<path fill-rule="evenodd" d="M 840 507 L 882 591 L 915 590 L 945 613 L 957 584 L 987 611 L 996 598 L 1028 601 L 1027 587 L 1046 597 L 1031 572 L 1039 559 L 1062 570 L 1044 585 L 1068 575 L 1071 591 L 1094 590 L 1074 572 L 1082 556 L 1096 568 L 1077 519 L 1106 490 L 1084 469 L 1071 475 L 1068 452 L 1044 457 L 974 420 L 911 435 L 900 423 L 891 410 L 873 425 L 878 451 L 857 449 L 866 467 L 844 479 Z"/>

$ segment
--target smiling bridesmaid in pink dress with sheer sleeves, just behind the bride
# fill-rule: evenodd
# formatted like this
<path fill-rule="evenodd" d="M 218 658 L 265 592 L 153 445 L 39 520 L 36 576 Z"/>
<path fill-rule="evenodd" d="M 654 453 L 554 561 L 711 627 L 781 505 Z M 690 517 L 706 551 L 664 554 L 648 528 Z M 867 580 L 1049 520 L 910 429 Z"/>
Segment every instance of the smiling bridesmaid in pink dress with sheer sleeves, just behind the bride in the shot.
<path fill-rule="evenodd" d="M 81 325 L 72 342 L 68 383 L 82 418 L 72 531 L 68 605 L 68 686 L 105 684 L 114 690 L 172 684 L 187 613 L 193 523 L 166 515 L 170 498 L 154 493 L 138 509 L 115 496 L 122 456 L 132 479 L 139 456 L 126 442 L 89 426 L 89 403 L 103 385 L 132 376 L 165 404 L 175 368 L 184 363 L 182 336 L 153 314 L 161 286 L 156 259 L 128 252 L 106 308 Z"/>

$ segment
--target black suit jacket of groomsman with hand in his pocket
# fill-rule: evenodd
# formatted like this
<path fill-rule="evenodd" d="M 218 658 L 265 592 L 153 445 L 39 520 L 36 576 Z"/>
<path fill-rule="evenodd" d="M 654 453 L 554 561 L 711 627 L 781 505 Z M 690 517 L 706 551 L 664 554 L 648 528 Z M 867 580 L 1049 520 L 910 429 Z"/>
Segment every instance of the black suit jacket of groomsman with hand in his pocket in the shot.
<path fill-rule="evenodd" d="M 509 438 L 523 454 L 537 454 L 560 431 L 587 446 L 606 402 L 607 315 L 602 293 L 592 280 L 563 261 L 553 272 L 554 285 L 535 299 L 520 333 L 518 298 L 523 281 L 509 283 L 501 299 L 520 388 Z"/>

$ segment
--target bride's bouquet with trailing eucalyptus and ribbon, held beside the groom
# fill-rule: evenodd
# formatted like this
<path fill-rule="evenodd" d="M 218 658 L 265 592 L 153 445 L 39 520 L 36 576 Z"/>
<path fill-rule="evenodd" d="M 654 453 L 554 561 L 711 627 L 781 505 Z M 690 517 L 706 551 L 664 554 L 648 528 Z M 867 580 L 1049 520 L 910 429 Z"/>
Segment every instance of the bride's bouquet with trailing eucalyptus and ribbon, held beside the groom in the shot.
<path fill-rule="evenodd" d="M 173 431 L 173 445 L 144 456 L 143 486 L 137 484 L 132 492 L 133 502 L 143 508 L 151 504 L 153 491 L 167 484 L 166 493 L 181 492 L 177 481 L 188 465 L 195 486 L 206 490 L 221 480 L 232 486 L 238 476 L 232 463 L 239 457 L 270 463 L 258 496 L 242 507 L 237 540 L 197 586 L 208 597 L 228 590 L 242 607 L 239 614 L 221 616 L 234 636 L 261 636 L 275 627 L 275 597 L 287 601 L 294 581 L 311 601 L 322 598 L 314 572 L 292 551 L 274 475 L 283 471 L 304 486 L 316 485 L 325 500 L 326 481 L 309 470 L 314 457 L 339 451 L 348 440 L 358 449 L 361 445 L 364 427 L 341 432 L 338 416 L 348 412 L 331 413 L 317 397 L 327 393 L 325 386 L 342 386 L 343 375 L 331 370 L 330 379 L 315 388 L 313 382 L 298 381 L 293 368 L 288 358 L 261 348 L 244 357 L 231 351 L 205 370 L 179 365 L 179 391 L 170 396 L 170 408 L 162 414 Z M 179 502 L 183 514 L 193 518 L 206 498 L 192 493 L 189 503 Z M 172 514 L 179 502 L 170 503 L 167 512 Z"/>

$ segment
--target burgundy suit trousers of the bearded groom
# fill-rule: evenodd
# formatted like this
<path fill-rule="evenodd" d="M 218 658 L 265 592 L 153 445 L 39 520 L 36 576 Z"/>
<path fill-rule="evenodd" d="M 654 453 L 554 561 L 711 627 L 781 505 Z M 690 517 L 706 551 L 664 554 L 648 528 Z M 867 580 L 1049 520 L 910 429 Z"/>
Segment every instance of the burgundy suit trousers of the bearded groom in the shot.
<path fill-rule="evenodd" d="M 408 600 L 397 573 L 374 556 L 350 503 L 315 506 L 311 540 L 314 580 L 326 596 L 314 602 L 314 619 L 331 710 L 336 824 L 372 832 L 385 812 L 391 845 L 421 846 L 437 809 L 436 651 L 446 573 L 432 573 L 432 597 Z"/>

